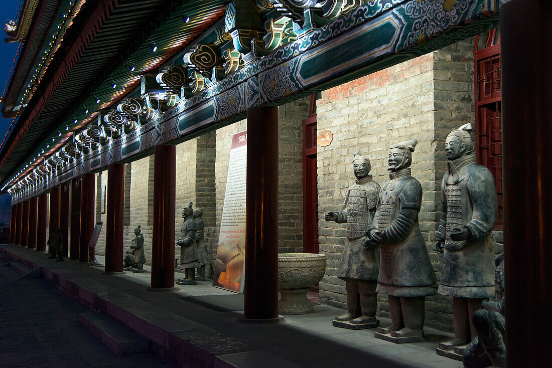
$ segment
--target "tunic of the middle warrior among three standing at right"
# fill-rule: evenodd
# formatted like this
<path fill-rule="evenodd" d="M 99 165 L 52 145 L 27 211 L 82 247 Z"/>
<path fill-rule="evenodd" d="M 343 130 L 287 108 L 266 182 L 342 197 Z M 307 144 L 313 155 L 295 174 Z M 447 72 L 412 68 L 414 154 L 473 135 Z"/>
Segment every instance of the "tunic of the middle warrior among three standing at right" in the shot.
<path fill-rule="evenodd" d="M 418 226 L 422 186 L 410 168 L 397 170 L 381 189 L 370 230 L 379 230 L 380 271 L 377 291 L 414 297 L 437 294 L 437 279 Z"/>

